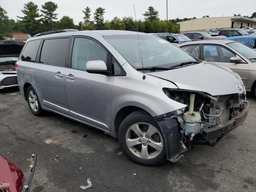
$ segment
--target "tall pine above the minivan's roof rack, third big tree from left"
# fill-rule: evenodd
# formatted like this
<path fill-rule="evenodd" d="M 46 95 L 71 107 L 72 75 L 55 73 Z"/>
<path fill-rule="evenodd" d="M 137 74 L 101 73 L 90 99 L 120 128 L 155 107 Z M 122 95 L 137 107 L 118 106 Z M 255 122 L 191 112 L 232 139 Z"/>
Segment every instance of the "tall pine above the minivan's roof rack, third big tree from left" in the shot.
<path fill-rule="evenodd" d="M 42 19 L 43 22 L 46 24 L 46 30 L 54 30 L 54 20 L 57 20 L 57 13 L 54 13 L 56 9 L 58 8 L 58 5 L 52 1 L 45 2 L 42 5 Z"/>

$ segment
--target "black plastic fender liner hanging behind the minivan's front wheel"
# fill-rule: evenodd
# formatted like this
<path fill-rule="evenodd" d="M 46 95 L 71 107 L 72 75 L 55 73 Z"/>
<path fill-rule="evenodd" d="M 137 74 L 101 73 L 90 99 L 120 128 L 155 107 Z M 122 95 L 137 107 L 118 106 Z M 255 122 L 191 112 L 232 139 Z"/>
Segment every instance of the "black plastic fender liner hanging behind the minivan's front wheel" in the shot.
<path fill-rule="evenodd" d="M 171 162 L 178 161 L 182 155 L 180 148 L 181 132 L 176 118 L 156 120 L 163 135 L 166 145 L 166 157 Z"/>

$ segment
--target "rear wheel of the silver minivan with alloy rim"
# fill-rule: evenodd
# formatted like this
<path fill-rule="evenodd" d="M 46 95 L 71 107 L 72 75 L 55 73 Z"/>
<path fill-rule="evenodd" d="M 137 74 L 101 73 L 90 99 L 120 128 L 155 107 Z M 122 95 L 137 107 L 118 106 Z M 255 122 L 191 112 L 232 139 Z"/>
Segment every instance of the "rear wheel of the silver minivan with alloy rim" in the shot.
<path fill-rule="evenodd" d="M 43 110 L 41 108 L 38 96 L 32 86 L 29 86 L 27 89 L 27 102 L 28 107 L 34 115 L 41 116 L 43 114 Z"/>

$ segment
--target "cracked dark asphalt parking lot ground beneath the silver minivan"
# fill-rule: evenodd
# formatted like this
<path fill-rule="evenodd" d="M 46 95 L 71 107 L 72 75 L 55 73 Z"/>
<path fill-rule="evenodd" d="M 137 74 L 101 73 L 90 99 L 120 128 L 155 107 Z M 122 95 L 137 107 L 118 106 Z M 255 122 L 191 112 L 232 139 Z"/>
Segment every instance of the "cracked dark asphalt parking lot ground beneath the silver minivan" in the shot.
<path fill-rule="evenodd" d="M 246 121 L 216 146 L 195 145 L 179 162 L 147 167 L 118 155 L 118 141 L 104 132 L 53 113 L 34 116 L 17 88 L 0 90 L 0 154 L 26 174 L 26 159 L 38 152 L 33 192 L 81 191 L 87 178 L 88 192 L 255 192 L 256 98 L 248 100 Z"/>

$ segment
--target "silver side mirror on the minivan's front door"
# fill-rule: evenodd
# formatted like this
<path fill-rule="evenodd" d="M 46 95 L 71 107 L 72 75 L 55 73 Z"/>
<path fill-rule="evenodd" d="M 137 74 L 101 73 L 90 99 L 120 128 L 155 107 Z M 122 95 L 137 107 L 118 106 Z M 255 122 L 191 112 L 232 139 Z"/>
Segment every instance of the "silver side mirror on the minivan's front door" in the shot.
<path fill-rule="evenodd" d="M 106 74 L 108 72 L 106 63 L 102 60 L 88 61 L 85 69 L 88 73 Z"/>

